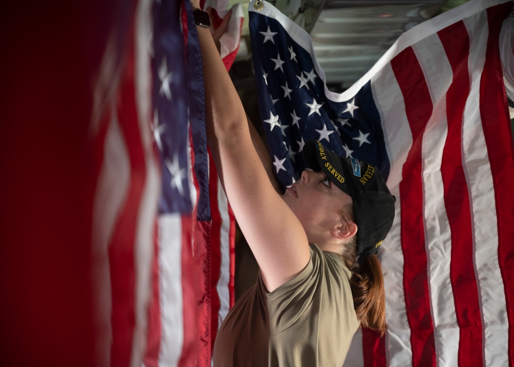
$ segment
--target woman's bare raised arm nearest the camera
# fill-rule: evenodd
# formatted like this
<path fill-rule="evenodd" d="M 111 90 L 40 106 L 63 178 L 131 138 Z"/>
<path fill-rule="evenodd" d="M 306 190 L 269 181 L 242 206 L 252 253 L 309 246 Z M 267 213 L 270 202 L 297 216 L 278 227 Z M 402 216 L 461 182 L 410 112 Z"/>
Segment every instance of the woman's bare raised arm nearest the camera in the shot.
<path fill-rule="evenodd" d="M 192 4 L 198 6 L 195 1 Z M 209 147 L 237 223 L 272 291 L 307 265 L 307 236 L 268 178 L 252 143 L 243 104 L 209 29 L 198 26 L 197 30 Z"/>

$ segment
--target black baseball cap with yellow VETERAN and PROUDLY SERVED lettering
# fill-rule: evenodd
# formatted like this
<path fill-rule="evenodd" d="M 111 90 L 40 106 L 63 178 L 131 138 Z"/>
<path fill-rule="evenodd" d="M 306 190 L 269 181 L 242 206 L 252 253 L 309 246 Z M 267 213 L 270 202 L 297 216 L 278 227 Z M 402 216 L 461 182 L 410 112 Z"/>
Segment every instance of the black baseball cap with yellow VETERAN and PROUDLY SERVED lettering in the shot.
<path fill-rule="evenodd" d="M 357 254 L 376 253 L 393 225 L 396 201 L 378 168 L 359 159 L 340 158 L 318 140 L 305 143 L 302 154 L 308 168 L 323 171 L 339 189 L 352 197 Z"/>

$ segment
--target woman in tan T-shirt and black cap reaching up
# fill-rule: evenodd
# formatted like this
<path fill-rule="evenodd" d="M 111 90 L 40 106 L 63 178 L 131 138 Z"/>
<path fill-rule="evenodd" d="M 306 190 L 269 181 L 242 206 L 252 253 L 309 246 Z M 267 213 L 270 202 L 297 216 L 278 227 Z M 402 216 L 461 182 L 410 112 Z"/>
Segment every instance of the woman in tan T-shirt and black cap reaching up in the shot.
<path fill-rule="evenodd" d="M 198 23 L 209 148 L 260 267 L 219 329 L 214 365 L 341 366 L 359 325 L 386 327 L 375 252 L 391 228 L 394 197 L 378 169 L 317 141 L 303 150 L 312 171 L 280 196 L 269 156 Z"/>

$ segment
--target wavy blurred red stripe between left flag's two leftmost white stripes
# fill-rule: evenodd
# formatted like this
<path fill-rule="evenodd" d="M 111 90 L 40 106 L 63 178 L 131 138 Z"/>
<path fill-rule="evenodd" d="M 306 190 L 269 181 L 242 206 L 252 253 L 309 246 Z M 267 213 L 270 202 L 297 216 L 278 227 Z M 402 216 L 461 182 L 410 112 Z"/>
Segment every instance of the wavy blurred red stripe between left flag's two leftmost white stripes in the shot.
<path fill-rule="evenodd" d="M 128 34 L 132 34 L 132 32 Z M 128 366 L 131 362 L 135 325 L 134 242 L 138 225 L 139 203 L 146 180 L 146 165 L 135 101 L 134 44 L 132 41 L 127 55 L 123 81 L 119 89 L 121 96 L 118 100 L 117 111 L 130 160 L 130 181 L 126 200 L 120 211 L 108 249 L 113 306 L 112 366 Z"/>

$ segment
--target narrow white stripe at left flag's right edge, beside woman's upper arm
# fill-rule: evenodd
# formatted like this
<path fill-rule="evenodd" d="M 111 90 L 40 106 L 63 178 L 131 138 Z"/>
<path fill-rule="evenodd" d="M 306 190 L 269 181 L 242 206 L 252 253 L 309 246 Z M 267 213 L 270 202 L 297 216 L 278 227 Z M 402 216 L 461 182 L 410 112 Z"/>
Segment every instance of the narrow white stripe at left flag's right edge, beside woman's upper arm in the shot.
<path fill-rule="evenodd" d="M 219 179 L 217 180 L 218 189 L 218 210 L 221 217 L 221 228 L 219 231 L 219 256 L 220 269 L 219 279 L 216 290 L 219 296 L 218 328 L 228 314 L 230 308 L 230 290 L 228 288 L 230 280 L 230 217 L 228 214 L 228 200 L 223 191 Z"/>

